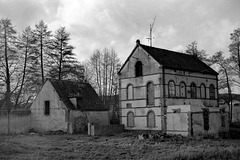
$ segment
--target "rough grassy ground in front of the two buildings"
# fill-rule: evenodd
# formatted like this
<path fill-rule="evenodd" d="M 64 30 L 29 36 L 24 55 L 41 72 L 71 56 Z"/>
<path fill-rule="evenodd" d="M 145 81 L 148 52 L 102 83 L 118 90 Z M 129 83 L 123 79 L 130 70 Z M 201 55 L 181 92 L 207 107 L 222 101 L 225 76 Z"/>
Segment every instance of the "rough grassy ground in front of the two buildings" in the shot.
<path fill-rule="evenodd" d="M 239 159 L 240 140 L 185 138 L 139 140 L 114 136 L 15 135 L 0 137 L 1 160 L 66 159 Z"/>

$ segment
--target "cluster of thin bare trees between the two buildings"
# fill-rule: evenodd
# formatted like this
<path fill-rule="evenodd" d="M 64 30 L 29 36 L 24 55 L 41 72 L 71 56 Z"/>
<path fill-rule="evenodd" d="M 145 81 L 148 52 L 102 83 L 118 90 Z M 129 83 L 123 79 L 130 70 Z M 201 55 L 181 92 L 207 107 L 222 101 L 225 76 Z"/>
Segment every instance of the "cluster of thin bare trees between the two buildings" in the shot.
<path fill-rule="evenodd" d="M 95 50 L 90 57 L 92 80 L 96 82 L 96 90 L 106 104 L 108 97 L 117 94 L 117 68 L 120 60 L 114 49 Z"/>

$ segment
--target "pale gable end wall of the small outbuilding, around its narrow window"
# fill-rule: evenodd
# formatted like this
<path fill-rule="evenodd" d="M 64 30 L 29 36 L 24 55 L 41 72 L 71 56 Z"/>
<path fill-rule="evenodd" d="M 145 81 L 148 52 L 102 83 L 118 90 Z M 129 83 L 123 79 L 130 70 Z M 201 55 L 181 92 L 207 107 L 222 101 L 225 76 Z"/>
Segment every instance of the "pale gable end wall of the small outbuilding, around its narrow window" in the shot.
<path fill-rule="evenodd" d="M 50 101 L 50 115 L 44 115 L 44 103 Z M 31 106 L 31 127 L 38 131 L 67 131 L 66 107 L 47 81 Z"/>

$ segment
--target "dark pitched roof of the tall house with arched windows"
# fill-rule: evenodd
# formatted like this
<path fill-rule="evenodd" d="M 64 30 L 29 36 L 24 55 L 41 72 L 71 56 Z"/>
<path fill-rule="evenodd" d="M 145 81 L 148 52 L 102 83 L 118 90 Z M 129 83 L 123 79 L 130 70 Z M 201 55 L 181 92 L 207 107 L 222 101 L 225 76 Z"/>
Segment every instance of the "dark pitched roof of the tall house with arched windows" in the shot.
<path fill-rule="evenodd" d="M 214 71 L 211 67 L 206 65 L 204 62 L 202 62 L 194 55 L 146 46 L 140 44 L 139 40 L 137 40 L 137 45 L 133 49 L 132 53 L 130 54 L 126 62 L 129 60 L 129 58 L 134 53 L 137 47 L 141 47 L 144 51 L 151 55 L 159 64 L 163 65 L 163 67 L 165 68 L 218 75 L 216 71 Z M 126 64 L 126 62 L 124 63 L 124 65 Z M 120 71 L 122 70 L 122 68 L 120 69 Z"/>

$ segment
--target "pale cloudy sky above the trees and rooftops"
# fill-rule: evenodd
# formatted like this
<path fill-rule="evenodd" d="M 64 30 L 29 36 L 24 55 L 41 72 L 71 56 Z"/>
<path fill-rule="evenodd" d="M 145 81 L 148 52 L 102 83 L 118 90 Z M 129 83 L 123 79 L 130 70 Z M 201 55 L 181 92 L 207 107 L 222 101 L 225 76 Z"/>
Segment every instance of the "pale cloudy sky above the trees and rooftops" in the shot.
<path fill-rule="evenodd" d="M 80 61 L 95 49 L 113 47 L 122 61 L 136 39 L 149 44 L 149 25 L 156 16 L 153 46 L 184 51 L 192 41 L 209 55 L 223 51 L 240 27 L 240 0 L 0 0 L 0 18 L 10 18 L 20 32 L 40 20 L 55 31 L 65 26 Z"/>

